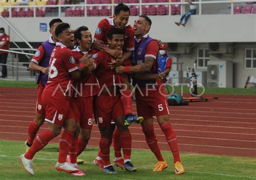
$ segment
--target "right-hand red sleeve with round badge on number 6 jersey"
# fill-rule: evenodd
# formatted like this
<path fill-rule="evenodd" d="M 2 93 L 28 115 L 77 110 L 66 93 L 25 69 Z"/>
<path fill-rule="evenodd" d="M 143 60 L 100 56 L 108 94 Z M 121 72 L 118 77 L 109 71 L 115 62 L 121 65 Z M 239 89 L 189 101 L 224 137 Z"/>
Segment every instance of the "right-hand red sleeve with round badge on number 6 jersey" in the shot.
<path fill-rule="evenodd" d="M 65 49 L 63 52 L 63 59 L 65 67 L 68 69 L 69 73 L 78 69 L 75 57 L 69 49 Z"/>

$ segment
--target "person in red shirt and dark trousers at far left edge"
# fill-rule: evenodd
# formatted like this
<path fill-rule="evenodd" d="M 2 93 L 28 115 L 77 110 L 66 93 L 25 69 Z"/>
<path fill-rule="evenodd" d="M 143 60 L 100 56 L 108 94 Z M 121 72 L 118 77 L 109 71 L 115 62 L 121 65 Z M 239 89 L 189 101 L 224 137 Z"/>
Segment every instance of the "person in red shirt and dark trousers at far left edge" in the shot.
<path fill-rule="evenodd" d="M 8 52 L 1 51 L 1 49 L 9 50 L 9 35 L 5 34 L 4 28 L 0 28 L 0 63 L 6 64 Z M 7 68 L 2 65 L 2 78 L 7 77 Z"/>

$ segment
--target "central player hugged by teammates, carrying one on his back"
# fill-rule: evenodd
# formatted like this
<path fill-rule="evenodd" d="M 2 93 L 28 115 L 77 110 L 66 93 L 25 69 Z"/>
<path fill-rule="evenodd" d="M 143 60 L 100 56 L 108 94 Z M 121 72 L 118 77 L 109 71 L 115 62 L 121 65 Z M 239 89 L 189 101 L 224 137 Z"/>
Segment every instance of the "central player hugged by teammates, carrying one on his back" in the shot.
<path fill-rule="evenodd" d="M 124 46 L 124 31 L 119 28 L 113 28 L 107 34 L 110 49 L 122 49 Z M 110 145 L 112 143 L 113 126 L 111 121 L 114 120 L 122 141 L 120 145 L 124 153 L 124 168 L 128 171 L 137 171 L 131 163 L 131 134 L 127 126 L 124 125 L 124 110 L 120 99 L 120 93 L 116 86 L 123 83 L 123 76 L 118 75 L 114 69 L 109 67 L 109 63 L 114 59 L 110 54 L 97 52 L 92 55 L 97 65 L 96 77 L 100 85 L 100 92 L 95 101 L 96 119 L 98 122 L 100 134 L 102 135 L 99 142 L 100 152 L 102 153 L 104 171 L 107 173 L 117 173 L 110 163 Z M 117 91 L 116 91 L 117 90 Z M 125 139 L 125 140 L 124 140 Z"/>

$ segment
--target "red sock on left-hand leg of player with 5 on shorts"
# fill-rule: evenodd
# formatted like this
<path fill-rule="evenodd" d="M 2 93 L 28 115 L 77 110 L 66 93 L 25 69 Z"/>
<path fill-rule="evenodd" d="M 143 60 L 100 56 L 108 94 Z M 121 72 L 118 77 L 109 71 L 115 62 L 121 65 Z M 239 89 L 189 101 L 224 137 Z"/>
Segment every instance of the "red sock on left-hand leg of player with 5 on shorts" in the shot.
<path fill-rule="evenodd" d="M 164 161 L 164 157 L 161 155 L 160 149 L 157 144 L 156 134 L 154 134 L 154 126 L 153 125 L 145 125 L 142 127 L 142 130 L 145 134 L 147 145 L 149 145 L 151 151 L 157 157 L 157 160 Z"/>

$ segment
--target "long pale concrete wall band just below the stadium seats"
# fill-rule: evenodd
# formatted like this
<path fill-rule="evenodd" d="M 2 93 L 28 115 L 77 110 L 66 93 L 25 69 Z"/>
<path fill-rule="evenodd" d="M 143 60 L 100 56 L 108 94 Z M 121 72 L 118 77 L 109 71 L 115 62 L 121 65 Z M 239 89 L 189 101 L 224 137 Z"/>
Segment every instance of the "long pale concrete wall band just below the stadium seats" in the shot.
<path fill-rule="evenodd" d="M 39 24 L 53 17 L 45 18 L 6 18 L 14 28 L 29 42 L 41 42 L 49 38 L 48 32 L 39 31 Z M 130 17 L 129 22 L 137 17 Z M 186 27 L 177 26 L 180 16 L 152 16 L 151 37 L 164 42 L 255 42 L 256 14 L 248 15 L 204 15 L 191 16 Z M 98 22 L 103 17 L 62 17 L 72 28 L 81 25 L 89 27 L 95 33 Z M 0 26 L 8 28 L 0 19 Z M 49 30 L 49 28 L 48 28 Z M 10 32 L 12 41 L 22 41 L 14 32 Z"/>

